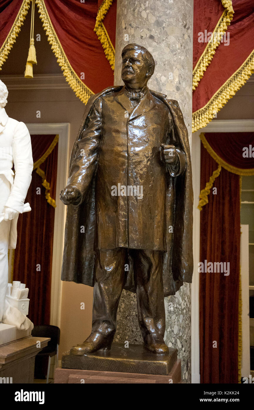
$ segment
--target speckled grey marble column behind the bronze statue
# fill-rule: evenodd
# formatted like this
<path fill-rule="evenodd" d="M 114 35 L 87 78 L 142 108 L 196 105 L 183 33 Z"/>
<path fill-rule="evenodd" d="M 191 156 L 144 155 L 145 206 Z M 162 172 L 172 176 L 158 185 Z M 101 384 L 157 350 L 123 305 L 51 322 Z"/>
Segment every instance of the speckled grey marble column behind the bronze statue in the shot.
<path fill-rule="evenodd" d="M 193 0 L 118 0 L 114 84 L 121 80 L 121 51 L 138 43 L 153 55 L 156 66 L 150 89 L 177 100 L 185 118 L 191 145 Z M 191 383 L 191 287 L 184 284 L 165 298 L 165 342 L 178 349 L 182 378 Z M 136 295 L 124 291 L 118 308 L 117 342 L 142 343 Z"/>

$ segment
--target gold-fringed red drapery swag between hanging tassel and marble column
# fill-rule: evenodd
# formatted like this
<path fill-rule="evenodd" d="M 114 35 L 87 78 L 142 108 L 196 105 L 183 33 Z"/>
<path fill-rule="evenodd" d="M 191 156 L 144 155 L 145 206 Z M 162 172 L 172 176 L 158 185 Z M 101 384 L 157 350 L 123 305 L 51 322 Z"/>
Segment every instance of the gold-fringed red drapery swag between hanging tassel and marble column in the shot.
<path fill-rule="evenodd" d="M 88 98 L 114 82 L 114 73 L 94 31 L 98 1 L 36 0 L 58 63 L 76 95 Z M 102 75 L 103 73 L 103 75 Z"/>

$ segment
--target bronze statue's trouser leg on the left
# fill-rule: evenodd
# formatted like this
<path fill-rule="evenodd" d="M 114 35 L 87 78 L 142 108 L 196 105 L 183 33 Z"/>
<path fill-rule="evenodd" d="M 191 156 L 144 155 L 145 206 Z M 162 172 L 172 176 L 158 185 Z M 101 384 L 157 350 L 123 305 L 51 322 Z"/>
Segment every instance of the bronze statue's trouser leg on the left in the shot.
<path fill-rule="evenodd" d="M 127 249 L 98 251 L 94 285 L 92 332 L 116 331 L 116 313 L 123 290 Z"/>

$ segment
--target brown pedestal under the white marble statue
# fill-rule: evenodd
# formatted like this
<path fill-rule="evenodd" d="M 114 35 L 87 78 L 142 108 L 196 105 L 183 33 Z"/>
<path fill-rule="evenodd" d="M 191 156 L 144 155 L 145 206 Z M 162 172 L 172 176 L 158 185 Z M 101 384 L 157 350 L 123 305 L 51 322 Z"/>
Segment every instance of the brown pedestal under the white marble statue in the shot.
<path fill-rule="evenodd" d="M 0 346 L 1 383 L 33 383 L 35 356 L 49 340 L 28 336 Z"/>

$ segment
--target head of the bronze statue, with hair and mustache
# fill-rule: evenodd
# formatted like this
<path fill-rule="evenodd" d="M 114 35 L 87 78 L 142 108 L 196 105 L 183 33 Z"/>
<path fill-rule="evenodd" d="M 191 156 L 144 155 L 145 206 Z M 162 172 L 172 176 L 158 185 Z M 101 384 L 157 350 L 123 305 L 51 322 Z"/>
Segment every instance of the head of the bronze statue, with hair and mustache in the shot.
<path fill-rule="evenodd" d="M 122 51 L 122 80 L 125 84 L 144 87 L 154 73 L 154 57 L 138 44 L 127 44 Z"/>

